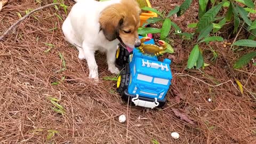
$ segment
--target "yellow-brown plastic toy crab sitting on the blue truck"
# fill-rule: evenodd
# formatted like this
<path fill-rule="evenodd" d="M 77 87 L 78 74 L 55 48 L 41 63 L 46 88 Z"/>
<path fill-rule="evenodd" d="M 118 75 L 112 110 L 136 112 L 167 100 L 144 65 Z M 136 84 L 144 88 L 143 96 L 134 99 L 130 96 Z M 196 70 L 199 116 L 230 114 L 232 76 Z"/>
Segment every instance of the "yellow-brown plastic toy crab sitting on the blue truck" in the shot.
<path fill-rule="evenodd" d="M 158 41 L 158 43 L 161 46 L 144 43 L 144 42 L 149 41 L 150 39 L 151 39 L 150 37 L 143 37 L 140 39 L 141 45 L 138 47 L 138 49 L 140 50 L 141 53 L 149 54 L 149 55 L 156 55 L 156 56 L 165 53 L 165 50 L 167 49 L 167 44 L 164 41 L 162 41 L 162 40 Z"/>

